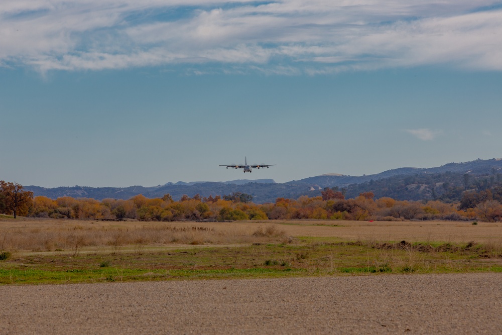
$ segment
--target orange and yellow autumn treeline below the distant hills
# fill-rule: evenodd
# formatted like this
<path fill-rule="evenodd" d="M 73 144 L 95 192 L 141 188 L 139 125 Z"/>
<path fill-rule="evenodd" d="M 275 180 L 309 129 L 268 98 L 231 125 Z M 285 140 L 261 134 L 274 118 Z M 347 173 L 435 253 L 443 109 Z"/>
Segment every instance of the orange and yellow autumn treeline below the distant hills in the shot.
<path fill-rule="evenodd" d="M 476 196 L 477 194 L 477 196 Z M 469 193 L 459 203 L 439 200 L 400 201 L 389 197 L 375 199 L 373 193 L 361 193 L 345 199 L 332 189 L 322 196 L 301 196 L 298 199 L 277 198 L 274 203 L 255 204 L 247 194 L 190 198 L 173 201 L 169 194 L 162 198 L 137 195 L 129 200 L 102 201 L 71 197 L 56 200 L 37 196 L 27 215 L 34 217 L 80 219 L 177 220 L 253 220 L 253 219 L 332 219 L 332 220 L 482 220 L 502 219 L 502 205 L 485 193 Z"/>

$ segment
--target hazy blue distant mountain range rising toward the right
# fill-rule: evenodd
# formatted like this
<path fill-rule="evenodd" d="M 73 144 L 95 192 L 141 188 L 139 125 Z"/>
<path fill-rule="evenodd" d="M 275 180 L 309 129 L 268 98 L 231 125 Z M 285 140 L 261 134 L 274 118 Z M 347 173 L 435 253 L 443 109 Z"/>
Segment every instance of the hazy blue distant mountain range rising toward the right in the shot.
<path fill-rule="evenodd" d="M 471 188 L 493 186 L 502 179 L 502 160 L 489 159 L 466 163 L 449 163 L 434 168 L 398 168 L 382 173 L 363 176 L 325 174 L 286 183 L 276 183 L 273 179 L 231 180 L 225 182 L 169 182 L 153 187 L 56 187 L 44 188 L 25 186 L 35 196 L 44 195 L 53 199 L 62 196 L 129 199 L 143 194 L 149 198 L 171 194 L 179 200 L 184 194 L 192 197 L 199 194 L 226 195 L 232 192 L 254 196 L 254 202 L 274 202 L 278 197 L 298 198 L 301 195 L 320 195 L 325 187 L 343 190 L 346 197 L 357 196 L 360 192 L 371 191 L 376 197 L 391 196 L 400 200 L 421 200 L 443 197 L 443 200 L 457 200 L 461 191 Z M 446 183 L 446 187 L 445 184 Z M 484 185 L 484 186 L 483 186 Z M 450 194 L 451 193 L 451 194 Z"/>

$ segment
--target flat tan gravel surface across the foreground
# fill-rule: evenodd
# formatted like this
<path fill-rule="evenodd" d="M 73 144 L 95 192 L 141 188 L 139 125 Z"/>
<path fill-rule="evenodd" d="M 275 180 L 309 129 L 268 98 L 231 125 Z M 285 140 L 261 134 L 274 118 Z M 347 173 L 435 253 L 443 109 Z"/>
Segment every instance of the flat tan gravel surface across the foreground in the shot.
<path fill-rule="evenodd" d="M 0 286 L 2 334 L 501 333 L 502 274 Z"/>

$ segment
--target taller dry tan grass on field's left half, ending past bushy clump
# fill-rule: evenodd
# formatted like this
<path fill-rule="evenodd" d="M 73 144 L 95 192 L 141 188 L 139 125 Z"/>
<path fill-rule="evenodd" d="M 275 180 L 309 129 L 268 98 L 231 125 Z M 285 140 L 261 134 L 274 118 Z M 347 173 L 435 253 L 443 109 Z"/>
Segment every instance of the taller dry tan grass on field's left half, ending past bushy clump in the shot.
<path fill-rule="evenodd" d="M 57 225 L 34 227 L 1 227 L 0 237 L 8 251 L 72 251 L 75 255 L 84 247 L 106 247 L 117 253 L 122 248 L 133 248 L 141 253 L 145 246 L 186 244 L 251 244 L 288 242 L 285 232 L 274 225 L 255 230 L 235 225 L 222 229 L 192 222 L 186 224 L 138 222 L 104 225 L 91 221 L 64 221 Z"/>

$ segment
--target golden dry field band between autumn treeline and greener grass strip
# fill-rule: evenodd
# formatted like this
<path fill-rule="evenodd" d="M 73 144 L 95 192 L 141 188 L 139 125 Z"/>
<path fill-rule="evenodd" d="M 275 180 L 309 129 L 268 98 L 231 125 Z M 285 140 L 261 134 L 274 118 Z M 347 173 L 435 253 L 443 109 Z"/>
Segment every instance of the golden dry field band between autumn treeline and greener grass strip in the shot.
<path fill-rule="evenodd" d="M 367 222 L 338 220 L 263 220 L 237 222 L 142 222 L 0 219 L 0 247 L 8 251 L 58 251 L 124 246 L 235 245 L 285 243 L 293 237 L 334 237 L 342 241 L 450 242 L 502 245 L 502 225 L 456 221 Z M 2 247 L 3 245 L 3 247 Z M 495 251 L 494 251 L 495 252 Z"/>

